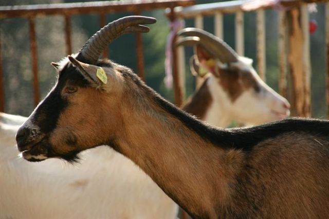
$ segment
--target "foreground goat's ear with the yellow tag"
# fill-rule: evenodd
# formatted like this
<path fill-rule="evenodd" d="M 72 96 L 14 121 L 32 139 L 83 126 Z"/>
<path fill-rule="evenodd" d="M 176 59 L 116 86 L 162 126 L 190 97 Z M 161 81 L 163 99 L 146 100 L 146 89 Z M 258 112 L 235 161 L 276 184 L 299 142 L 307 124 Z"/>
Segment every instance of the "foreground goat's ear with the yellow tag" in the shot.
<path fill-rule="evenodd" d="M 90 84 L 96 84 L 99 87 L 102 83 L 107 83 L 106 73 L 101 67 L 80 62 L 72 56 L 68 56 L 68 59 L 80 70 L 81 75 Z"/>

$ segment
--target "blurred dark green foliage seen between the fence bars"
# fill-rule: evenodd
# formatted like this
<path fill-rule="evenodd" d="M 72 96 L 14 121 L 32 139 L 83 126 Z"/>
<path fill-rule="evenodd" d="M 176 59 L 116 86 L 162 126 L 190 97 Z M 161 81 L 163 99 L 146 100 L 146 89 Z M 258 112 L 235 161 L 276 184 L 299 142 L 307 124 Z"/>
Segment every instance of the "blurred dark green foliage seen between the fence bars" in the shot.
<path fill-rule="evenodd" d="M 61 2 L 86 2 L 75 0 L 3 0 L 0 6 L 22 4 L 47 4 Z M 197 1 L 197 4 L 220 1 Z M 106 21 L 111 22 L 119 17 L 132 15 L 129 13 L 107 14 Z M 173 91 L 163 83 L 165 77 L 165 47 L 169 33 L 169 22 L 163 10 L 143 12 L 142 15 L 154 16 L 157 23 L 151 25 L 149 33 L 143 34 L 145 80 L 148 85 L 157 90 L 162 96 L 173 101 Z M 278 90 L 278 52 L 277 52 L 277 11 L 266 10 L 266 77 L 267 83 Z M 255 13 L 247 12 L 245 19 L 245 56 L 255 59 Z M 318 12 L 310 14 L 310 20 L 316 20 L 318 29 L 310 35 L 312 58 L 312 101 L 313 117 L 325 116 L 325 51 L 324 51 L 324 4 L 318 5 Z M 213 32 L 213 17 L 204 18 L 204 28 Z M 186 27 L 194 26 L 193 19 L 186 20 Z M 73 51 L 78 51 L 83 43 L 99 30 L 97 15 L 72 16 Z M 224 16 L 224 40 L 234 45 L 234 15 Z M 65 54 L 64 19 L 62 16 L 38 16 L 36 18 L 36 34 L 38 40 L 39 80 L 42 97 L 56 81 L 56 72 L 49 65 L 59 61 Z M 33 110 L 32 71 L 30 64 L 30 47 L 28 21 L 26 19 L 3 19 L 0 22 L 0 37 L 2 42 L 2 61 L 5 83 L 5 112 L 28 116 Z M 136 42 L 134 34 L 126 34 L 109 46 L 110 58 L 117 63 L 136 70 Z M 186 48 L 186 57 L 192 54 L 191 48 Z M 256 68 L 256 67 L 255 67 Z M 187 95 L 194 89 L 194 79 L 187 67 Z"/>

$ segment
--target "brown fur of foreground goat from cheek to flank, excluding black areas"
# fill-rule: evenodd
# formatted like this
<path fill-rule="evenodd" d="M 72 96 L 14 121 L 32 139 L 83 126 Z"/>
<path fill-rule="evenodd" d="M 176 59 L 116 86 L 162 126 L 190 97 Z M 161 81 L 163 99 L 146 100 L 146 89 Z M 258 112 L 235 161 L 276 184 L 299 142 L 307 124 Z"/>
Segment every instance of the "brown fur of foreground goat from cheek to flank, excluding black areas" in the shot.
<path fill-rule="evenodd" d="M 168 114 L 154 102 L 156 94 L 132 78 L 117 82 L 122 94 L 80 88 L 72 97 L 51 137 L 57 150 L 70 150 L 62 141 L 68 132 L 77 135 L 82 150 L 114 138 L 120 153 L 195 217 L 329 214 L 329 182 L 321 181 L 329 171 L 329 151 L 320 147 L 329 145 L 327 139 L 289 133 L 260 143 L 249 155 L 226 151 Z"/>

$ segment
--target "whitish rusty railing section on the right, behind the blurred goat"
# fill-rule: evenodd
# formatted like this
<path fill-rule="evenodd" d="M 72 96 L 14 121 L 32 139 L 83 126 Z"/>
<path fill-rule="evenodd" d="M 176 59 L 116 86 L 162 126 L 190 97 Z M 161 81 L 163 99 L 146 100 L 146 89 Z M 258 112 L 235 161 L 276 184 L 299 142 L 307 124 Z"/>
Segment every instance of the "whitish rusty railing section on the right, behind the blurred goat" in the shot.
<path fill-rule="evenodd" d="M 203 29 L 204 16 L 213 16 L 214 34 L 223 39 L 223 16 L 235 14 L 235 50 L 244 56 L 244 12 L 256 13 L 257 69 L 263 80 L 266 80 L 266 47 L 265 47 L 265 9 L 278 11 L 278 60 L 279 92 L 287 97 L 287 76 L 291 78 L 291 105 L 295 116 L 311 116 L 310 98 L 310 46 L 307 10 L 308 3 L 324 3 L 325 0 L 281 0 L 252 1 L 237 0 L 229 2 L 201 4 L 189 7 L 177 7 L 174 14 L 177 19 L 194 19 L 194 26 Z M 325 3 L 325 77 L 326 109 L 329 118 L 329 3 Z M 173 42 L 174 45 L 175 42 Z M 182 74 L 185 72 L 184 49 L 174 48 L 173 74 L 174 88 L 177 90 L 175 103 L 180 105 L 185 94 L 185 83 Z"/>

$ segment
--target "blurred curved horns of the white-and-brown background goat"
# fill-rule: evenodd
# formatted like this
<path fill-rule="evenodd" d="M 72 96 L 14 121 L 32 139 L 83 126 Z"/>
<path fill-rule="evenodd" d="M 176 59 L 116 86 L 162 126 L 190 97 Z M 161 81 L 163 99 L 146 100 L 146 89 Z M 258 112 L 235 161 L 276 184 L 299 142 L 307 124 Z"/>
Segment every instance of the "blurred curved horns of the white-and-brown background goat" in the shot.
<path fill-rule="evenodd" d="M 218 58 L 223 63 L 237 62 L 238 55 L 237 53 L 223 40 L 217 38 L 211 33 L 208 33 L 202 29 L 198 28 L 185 28 L 180 30 L 177 35 L 179 36 L 197 36 L 200 40 L 194 41 L 195 44 L 199 43 L 204 46 L 207 50 L 211 51 L 211 54 Z M 191 45 L 193 40 L 188 39 L 188 43 Z M 181 43 L 184 42 L 184 38 Z M 194 45 L 195 45 L 194 44 Z M 183 45 L 183 44 L 181 44 Z"/>

